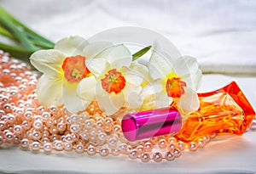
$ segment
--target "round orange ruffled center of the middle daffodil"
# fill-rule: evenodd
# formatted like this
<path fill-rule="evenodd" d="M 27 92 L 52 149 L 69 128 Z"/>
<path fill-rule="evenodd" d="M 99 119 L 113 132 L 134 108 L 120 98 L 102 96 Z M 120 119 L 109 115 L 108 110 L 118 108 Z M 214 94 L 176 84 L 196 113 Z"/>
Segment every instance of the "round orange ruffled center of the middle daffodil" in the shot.
<path fill-rule="evenodd" d="M 120 93 L 125 88 L 125 77 L 116 69 L 108 70 L 108 73 L 102 78 L 102 88 L 107 93 Z"/>

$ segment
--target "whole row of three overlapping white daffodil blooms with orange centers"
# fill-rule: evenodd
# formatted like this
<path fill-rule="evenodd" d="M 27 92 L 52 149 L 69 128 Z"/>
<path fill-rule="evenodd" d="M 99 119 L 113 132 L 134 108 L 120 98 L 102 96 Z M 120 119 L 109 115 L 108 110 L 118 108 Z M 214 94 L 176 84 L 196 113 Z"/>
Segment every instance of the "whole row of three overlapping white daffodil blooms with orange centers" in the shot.
<path fill-rule="evenodd" d="M 153 51 L 148 64 L 142 65 L 133 61 L 124 44 L 89 43 L 71 36 L 57 42 L 54 49 L 33 53 L 30 59 L 43 73 L 37 93 L 46 106 L 64 104 L 76 113 L 96 100 L 108 115 L 123 107 L 138 111 L 172 102 L 185 111 L 199 107 L 196 90 L 201 70 L 189 56 L 172 60 Z"/>

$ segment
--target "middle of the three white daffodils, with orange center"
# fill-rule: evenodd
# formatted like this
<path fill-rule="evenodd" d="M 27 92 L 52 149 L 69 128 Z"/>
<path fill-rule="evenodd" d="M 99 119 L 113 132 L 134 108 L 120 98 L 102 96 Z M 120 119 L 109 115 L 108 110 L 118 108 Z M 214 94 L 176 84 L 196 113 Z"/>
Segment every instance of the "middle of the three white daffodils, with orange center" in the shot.
<path fill-rule="evenodd" d="M 139 109 L 142 98 L 141 84 L 143 75 L 131 70 L 131 53 L 124 45 L 116 45 L 96 55 L 95 59 L 86 59 L 85 63 L 95 76 L 96 100 L 108 115 L 120 108 Z M 80 97 L 86 98 L 91 81 L 81 81 Z"/>

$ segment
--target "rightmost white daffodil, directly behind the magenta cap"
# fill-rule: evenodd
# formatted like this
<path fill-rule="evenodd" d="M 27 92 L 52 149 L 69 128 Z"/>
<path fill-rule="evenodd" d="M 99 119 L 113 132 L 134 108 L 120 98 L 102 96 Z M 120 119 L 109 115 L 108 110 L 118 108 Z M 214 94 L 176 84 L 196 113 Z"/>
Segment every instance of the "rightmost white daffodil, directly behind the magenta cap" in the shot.
<path fill-rule="evenodd" d="M 145 107 L 160 108 L 175 102 L 184 111 L 199 108 L 196 90 L 202 75 L 195 58 L 183 56 L 168 60 L 154 52 L 148 69 L 153 81 L 143 89 Z"/>

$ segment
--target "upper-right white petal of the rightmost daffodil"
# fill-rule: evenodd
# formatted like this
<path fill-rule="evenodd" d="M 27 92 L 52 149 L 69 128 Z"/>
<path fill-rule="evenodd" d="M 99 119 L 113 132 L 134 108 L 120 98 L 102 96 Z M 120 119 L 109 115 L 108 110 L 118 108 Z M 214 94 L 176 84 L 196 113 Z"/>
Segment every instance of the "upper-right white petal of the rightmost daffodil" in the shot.
<path fill-rule="evenodd" d="M 182 56 L 173 65 L 173 70 L 178 76 L 195 73 L 199 69 L 198 62 L 191 56 Z"/>

